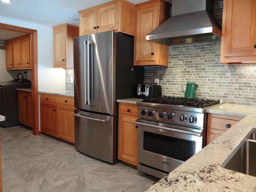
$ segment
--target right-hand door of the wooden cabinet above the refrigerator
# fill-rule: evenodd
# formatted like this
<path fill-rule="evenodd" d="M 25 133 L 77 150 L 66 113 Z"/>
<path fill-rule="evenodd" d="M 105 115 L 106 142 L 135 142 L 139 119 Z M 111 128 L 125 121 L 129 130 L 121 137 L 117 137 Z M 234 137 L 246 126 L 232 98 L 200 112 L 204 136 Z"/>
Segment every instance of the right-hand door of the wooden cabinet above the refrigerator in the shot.
<path fill-rule="evenodd" d="M 98 33 L 118 29 L 118 3 L 98 9 L 97 26 Z"/>

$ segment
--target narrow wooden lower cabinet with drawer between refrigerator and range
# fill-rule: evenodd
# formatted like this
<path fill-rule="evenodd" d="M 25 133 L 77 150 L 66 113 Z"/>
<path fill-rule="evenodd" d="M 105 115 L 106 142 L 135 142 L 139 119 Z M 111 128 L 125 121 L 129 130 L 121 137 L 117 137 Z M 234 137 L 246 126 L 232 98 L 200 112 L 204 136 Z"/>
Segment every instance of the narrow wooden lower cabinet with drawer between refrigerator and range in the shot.
<path fill-rule="evenodd" d="M 138 119 L 136 104 L 119 103 L 118 112 L 118 159 L 134 166 L 138 164 Z"/>

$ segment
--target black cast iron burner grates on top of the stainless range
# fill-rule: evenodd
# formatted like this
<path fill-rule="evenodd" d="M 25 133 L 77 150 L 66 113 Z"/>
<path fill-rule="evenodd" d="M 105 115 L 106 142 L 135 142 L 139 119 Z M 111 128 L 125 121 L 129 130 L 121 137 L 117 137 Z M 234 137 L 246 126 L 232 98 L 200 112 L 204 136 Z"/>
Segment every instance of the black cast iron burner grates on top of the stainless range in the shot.
<path fill-rule="evenodd" d="M 168 104 L 168 105 L 182 105 L 182 106 L 195 107 L 195 108 L 204 108 L 207 106 L 212 106 L 220 103 L 219 100 L 193 99 L 193 98 L 174 97 L 174 96 L 144 98 L 142 102 Z"/>

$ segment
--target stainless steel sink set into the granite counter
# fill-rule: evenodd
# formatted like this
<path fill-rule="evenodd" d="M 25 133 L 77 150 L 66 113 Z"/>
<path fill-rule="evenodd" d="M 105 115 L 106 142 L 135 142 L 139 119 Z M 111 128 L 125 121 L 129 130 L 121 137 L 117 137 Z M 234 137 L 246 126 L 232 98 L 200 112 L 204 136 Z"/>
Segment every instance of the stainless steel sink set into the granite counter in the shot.
<path fill-rule="evenodd" d="M 223 168 L 256 176 L 256 132 L 252 132 Z"/>

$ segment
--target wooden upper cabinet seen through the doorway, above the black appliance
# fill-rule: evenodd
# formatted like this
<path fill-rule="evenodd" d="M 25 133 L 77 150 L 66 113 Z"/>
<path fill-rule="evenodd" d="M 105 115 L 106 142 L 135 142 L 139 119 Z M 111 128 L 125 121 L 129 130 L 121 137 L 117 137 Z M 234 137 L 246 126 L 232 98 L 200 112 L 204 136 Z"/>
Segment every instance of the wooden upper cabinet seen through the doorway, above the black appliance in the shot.
<path fill-rule="evenodd" d="M 6 40 L 6 70 L 31 69 L 30 34 Z"/>

